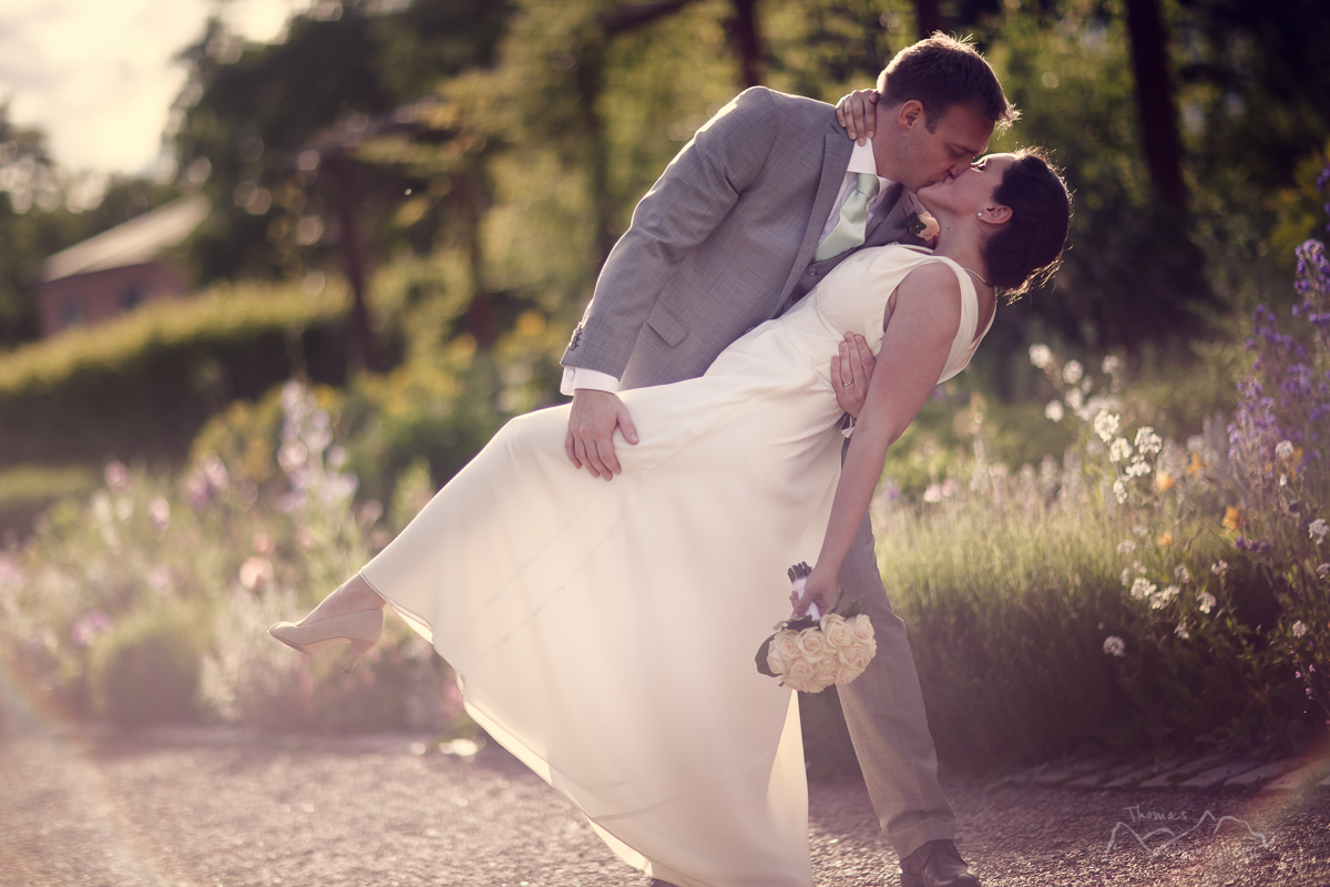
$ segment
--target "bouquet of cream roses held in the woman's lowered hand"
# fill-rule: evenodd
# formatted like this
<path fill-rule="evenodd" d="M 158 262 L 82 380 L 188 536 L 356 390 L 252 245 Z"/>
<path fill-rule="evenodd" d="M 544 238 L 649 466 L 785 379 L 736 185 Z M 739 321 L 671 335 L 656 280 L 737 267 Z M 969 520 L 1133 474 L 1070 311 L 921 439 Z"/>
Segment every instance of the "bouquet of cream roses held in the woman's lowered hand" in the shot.
<path fill-rule="evenodd" d="M 790 568 L 790 582 L 798 594 L 803 593 L 811 572 L 803 563 Z M 849 684 L 859 677 L 876 652 L 872 621 L 861 612 L 859 601 L 851 601 L 841 613 L 833 605 L 821 618 L 813 604 L 806 616 L 775 626 L 775 634 L 758 648 L 757 670 L 782 678 L 783 686 L 821 693 L 833 684 Z"/>

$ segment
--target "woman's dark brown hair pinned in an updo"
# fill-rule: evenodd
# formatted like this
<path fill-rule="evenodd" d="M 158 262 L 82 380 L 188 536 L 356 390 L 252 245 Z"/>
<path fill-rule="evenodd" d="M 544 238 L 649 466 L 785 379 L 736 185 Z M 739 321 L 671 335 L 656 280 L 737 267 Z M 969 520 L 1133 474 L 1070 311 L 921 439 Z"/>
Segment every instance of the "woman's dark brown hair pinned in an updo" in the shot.
<path fill-rule="evenodd" d="M 1067 184 L 1037 148 L 1013 152 L 994 191 L 994 202 L 1011 207 L 1007 221 L 984 245 L 994 286 L 1015 301 L 1041 286 L 1057 270 L 1072 219 Z"/>

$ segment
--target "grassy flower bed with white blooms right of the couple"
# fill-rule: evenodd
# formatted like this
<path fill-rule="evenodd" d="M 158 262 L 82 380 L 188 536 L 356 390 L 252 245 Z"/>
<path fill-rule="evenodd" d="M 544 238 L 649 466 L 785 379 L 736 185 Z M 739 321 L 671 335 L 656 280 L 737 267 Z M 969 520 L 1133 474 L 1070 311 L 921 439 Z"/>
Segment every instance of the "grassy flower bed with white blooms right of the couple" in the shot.
<path fill-rule="evenodd" d="M 1229 350 L 1210 358 L 1184 390 L 1233 378 Z M 1056 392 L 1044 422 L 1071 432 L 1061 463 L 1011 473 L 991 461 L 990 423 L 971 422 L 974 457 L 954 451 L 946 480 L 914 504 L 874 507 L 939 754 L 988 767 L 1299 747 L 1330 713 L 1314 669 L 1325 640 L 1310 628 L 1327 618 L 1323 460 L 1275 445 L 1250 404 L 1233 459 L 1222 420 L 1185 445 L 1162 440 L 1145 423 L 1173 398 L 1150 403 L 1157 388 L 1124 386 L 1112 360 L 1101 376 L 1041 346 L 1031 359 Z M 1267 355 L 1269 372 L 1281 367 Z"/>

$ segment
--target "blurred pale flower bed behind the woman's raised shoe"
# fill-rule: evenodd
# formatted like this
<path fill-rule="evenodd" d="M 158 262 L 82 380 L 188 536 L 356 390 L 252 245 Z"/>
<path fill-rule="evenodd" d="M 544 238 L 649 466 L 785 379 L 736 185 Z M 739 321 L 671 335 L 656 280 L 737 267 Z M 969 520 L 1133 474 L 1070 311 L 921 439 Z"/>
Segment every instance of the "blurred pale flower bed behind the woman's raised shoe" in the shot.
<path fill-rule="evenodd" d="M 125 723 L 197 710 L 271 729 L 466 730 L 452 673 L 402 625 L 351 676 L 266 634 L 390 539 L 378 503 L 352 507 L 334 392 L 290 383 L 275 399 L 267 465 L 243 448 L 203 451 L 178 477 L 112 463 L 105 487 L 0 551 L 0 649 L 51 701 Z M 259 404 L 237 426 L 270 419 Z"/>

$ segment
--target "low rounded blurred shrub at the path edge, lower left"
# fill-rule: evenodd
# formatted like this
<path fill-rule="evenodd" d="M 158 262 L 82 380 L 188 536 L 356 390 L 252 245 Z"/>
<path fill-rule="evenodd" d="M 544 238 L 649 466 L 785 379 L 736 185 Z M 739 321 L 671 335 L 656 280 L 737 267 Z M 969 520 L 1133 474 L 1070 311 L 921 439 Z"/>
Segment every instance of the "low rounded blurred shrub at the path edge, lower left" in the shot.
<path fill-rule="evenodd" d="M 121 726 L 194 719 L 206 636 L 198 613 L 165 604 L 117 624 L 92 649 L 93 710 Z"/>

